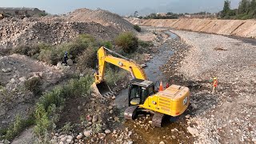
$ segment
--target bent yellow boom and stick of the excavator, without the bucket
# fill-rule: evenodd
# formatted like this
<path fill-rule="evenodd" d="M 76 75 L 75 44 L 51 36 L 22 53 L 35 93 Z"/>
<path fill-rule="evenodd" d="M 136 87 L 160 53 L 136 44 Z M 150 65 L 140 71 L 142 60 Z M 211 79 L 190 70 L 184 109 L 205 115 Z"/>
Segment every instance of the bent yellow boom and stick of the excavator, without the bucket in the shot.
<path fill-rule="evenodd" d="M 114 57 L 106 52 L 116 54 L 121 58 Z M 101 47 L 98 50 L 98 73 L 94 74 L 95 83 L 99 84 L 104 81 L 106 62 L 109 62 L 115 66 L 118 66 L 124 70 L 130 71 L 130 74 L 133 78 L 138 78 L 142 80 L 146 80 L 146 74 L 141 66 L 139 66 L 136 62 L 133 62 L 129 58 L 123 57 L 121 54 L 114 52 L 113 50 L 109 50 L 106 47 Z"/>

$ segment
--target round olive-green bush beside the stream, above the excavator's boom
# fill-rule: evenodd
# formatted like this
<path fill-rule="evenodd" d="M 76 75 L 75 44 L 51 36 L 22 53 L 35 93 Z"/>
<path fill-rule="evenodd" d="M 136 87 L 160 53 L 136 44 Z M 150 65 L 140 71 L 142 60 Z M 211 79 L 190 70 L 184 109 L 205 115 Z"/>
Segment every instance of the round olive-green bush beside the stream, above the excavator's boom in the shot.
<path fill-rule="evenodd" d="M 133 53 L 138 48 L 138 38 L 130 32 L 119 34 L 114 42 L 127 54 Z"/>

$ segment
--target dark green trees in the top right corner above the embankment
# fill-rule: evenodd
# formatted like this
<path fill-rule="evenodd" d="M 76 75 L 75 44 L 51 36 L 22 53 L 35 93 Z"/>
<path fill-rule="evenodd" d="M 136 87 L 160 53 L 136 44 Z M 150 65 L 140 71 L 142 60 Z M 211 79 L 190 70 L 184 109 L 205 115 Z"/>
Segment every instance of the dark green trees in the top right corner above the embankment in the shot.
<path fill-rule="evenodd" d="M 256 0 L 241 0 L 238 9 L 230 10 L 230 0 L 224 2 L 221 18 L 251 19 L 256 18 Z"/>

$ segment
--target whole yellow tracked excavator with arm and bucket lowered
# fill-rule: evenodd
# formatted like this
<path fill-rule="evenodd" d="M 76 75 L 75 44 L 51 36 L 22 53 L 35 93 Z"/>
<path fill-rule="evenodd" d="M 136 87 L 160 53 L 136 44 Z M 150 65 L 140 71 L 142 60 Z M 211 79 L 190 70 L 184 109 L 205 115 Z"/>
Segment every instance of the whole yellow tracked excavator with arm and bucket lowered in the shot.
<path fill-rule="evenodd" d="M 119 58 L 107 54 L 107 52 L 115 54 Z M 134 120 L 138 112 L 146 111 L 154 114 L 152 125 L 161 127 L 165 115 L 176 117 L 184 113 L 189 106 L 190 90 L 188 87 L 171 85 L 165 90 L 155 90 L 154 82 L 147 79 L 142 67 L 133 60 L 103 46 L 99 48 L 97 56 L 98 72 L 94 74 L 95 82 L 92 87 L 102 97 L 113 93 L 104 80 L 107 62 L 130 71 L 133 79 L 130 81 L 127 95 L 129 106 L 124 113 L 127 120 Z"/>

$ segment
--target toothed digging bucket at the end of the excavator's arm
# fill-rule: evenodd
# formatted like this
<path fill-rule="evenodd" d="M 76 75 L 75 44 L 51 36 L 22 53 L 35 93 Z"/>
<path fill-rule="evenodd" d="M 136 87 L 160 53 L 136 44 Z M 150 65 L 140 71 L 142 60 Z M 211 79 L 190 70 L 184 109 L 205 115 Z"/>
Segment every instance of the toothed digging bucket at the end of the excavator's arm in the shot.
<path fill-rule="evenodd" d="M 113 94 L 112 90 L 110 90 L 110 87 L 106 85 L 106 82 L 101 82 L 96 84 L 95 82 L 91 85 L 92 90 L 95 94 L 98 94 L 100 96 L 106 97 Z"/>

